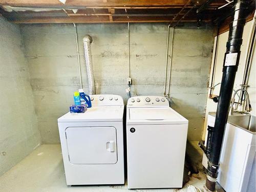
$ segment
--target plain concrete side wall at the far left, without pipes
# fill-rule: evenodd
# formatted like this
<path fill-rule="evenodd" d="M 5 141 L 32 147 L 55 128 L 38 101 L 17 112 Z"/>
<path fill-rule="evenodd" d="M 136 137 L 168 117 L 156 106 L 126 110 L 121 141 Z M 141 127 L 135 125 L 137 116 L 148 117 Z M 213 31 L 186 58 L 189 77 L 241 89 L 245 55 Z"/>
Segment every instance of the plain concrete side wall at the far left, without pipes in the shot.
<path fill-rule="evenodd" d="M 0 17 L 0 176 L 40 143 L 19 26 Z"/>

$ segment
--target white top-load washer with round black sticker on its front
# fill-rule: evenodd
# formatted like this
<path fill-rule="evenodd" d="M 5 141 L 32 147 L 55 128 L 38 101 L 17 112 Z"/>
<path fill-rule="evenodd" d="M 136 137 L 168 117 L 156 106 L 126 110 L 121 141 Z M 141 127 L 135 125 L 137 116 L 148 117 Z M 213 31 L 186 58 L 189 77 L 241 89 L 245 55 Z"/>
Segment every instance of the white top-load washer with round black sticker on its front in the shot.
<path fill-rule="evenodd" d="M 128 188 L 182 187 L 188 120 L 161 96 L 127 101 Z"/>

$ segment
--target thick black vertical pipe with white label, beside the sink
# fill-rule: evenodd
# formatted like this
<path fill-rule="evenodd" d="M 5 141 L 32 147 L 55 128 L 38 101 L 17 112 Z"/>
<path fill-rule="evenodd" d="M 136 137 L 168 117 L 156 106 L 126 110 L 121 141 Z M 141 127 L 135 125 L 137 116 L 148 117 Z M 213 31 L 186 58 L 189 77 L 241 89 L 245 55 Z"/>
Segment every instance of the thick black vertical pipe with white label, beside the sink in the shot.
<path fill-rule="evenodd" d="M 219 160 L 224 131 L 227 123 L 230 99 L 232 96 L 234 78 L 239 65 L 240 47 L 242 45 L 243 29 L 246 22 L 247 8 L 251 1 L 234 0 L 232 22 L 229 24 L 228 41 L 223 63 L 220 97 L 217 114 L 210 144 L 205 187 L 208 191 L 215 191 L 218 177 Z"/>

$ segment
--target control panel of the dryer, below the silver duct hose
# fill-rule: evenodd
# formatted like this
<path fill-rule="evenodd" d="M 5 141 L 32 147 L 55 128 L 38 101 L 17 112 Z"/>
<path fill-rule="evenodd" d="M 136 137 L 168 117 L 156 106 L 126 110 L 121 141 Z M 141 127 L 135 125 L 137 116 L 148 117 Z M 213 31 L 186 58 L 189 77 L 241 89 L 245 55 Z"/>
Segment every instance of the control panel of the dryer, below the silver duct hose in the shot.
<path fill-rule="evenodd" d="M 94 105 L 124 105 L 120 95 L 90 95 L 92 106 Z"/>

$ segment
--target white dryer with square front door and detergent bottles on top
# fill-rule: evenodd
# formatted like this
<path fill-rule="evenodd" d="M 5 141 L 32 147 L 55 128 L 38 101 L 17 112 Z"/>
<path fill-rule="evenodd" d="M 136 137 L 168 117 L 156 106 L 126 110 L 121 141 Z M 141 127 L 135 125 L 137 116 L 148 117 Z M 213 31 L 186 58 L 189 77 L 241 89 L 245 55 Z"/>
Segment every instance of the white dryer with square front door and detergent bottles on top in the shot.
<path fill-rule="evenodd" d="M 123 99 L 91 100 L 85 113 L 58 118 L 67 185 L 124 184 Z"/>

